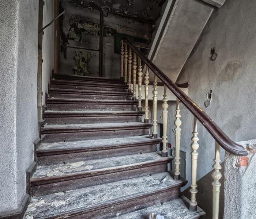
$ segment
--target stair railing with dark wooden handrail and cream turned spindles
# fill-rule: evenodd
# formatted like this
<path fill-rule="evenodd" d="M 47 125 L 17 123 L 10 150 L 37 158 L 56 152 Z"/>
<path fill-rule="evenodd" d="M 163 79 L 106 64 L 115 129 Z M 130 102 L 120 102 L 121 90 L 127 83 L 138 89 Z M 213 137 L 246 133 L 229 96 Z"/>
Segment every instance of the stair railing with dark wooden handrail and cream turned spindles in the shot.
<path fill-rule="evenodd" d="M 125 49 L 124 49 L 125 48 Z M 125 52 L 123 52 L 125 51 Z M 128 55 L 122 57 L 125 53 L 129 51 Z M 121 62 L 124 60 L 124 65 L 121 63 L 121 77 L 123 76 L 123 72 L 127 72 L 127 70 L 123 69 L 127 68 L 127 57 L 128 57 L 128 81 L 125 80 L 125 83 L 128 84 L 128 92 L 133 92 L 132 99 L 137 100 L 136 96 L 136 77 L 138 72 L 138 110 L 142 110 L 141 105 L 141 89 L 142 89 L 142 62 L 146 66 L 146 72 L 144 74 L 144 91 L 145 91 L 145 119 L 144 122 L 149 122 L 148 115 L 148 84 L 149 84 L 149 69 L 154 73 L 154 86 L 153 86 L 153 132 L 152 135 L 154 138 L 158 137 L 157 134 L 157 99 L 158 99 L 158 87 L 157 87 L 157 78 L 161 80 L 164 84 L 164 92 L 162 99 L 162 107 L 163 107 L 163 149 L 162 156 L 166 157 L 167 154 L 167 115 L 168 115 L 168 99 L 166 95 L 167 88 L 176 96 L 176 115 L 175 115 L 175 173 L 174 179 L 180 179 L 180 138 L 181 138 L 181 115 L 180 115 L 180 102 L 188 108 L 188 110 L 193 114 L 193 131 L 192 131 L 192 143 L 191 143 L 191 200 L 189 203 L 189 210 L 196 211 L 197 210 L 197 202 L 196 202 L 196 193 L 197 193 L 197 184 L 196 184 L 196 176 L 197 176 L 197 160 L 198 160 L 198 148 L 199 138 L 197 137 L 197 120 L 203 124 L 206 130 L 212 135 L 215 139 L 215 159 L 214 159 L 214 172 L 212 173 L 212 178 L 214 181 L 212 182 L 212 218 L 218 219 L 219 214 L 219 193 L 221 183 L 219 180 L 222 175 L 219 171 L 221 169 L 220 165 L 220 154 L 219 154 L 219 146 L 221 146 L 224 150 L 228 151 L 231 154 L 238 156 L 246 156 L 248 153 L 244 149 L 243 146 L 238 145 L 233 142 L 227 135 L 215 124 L 215 122 L 196 104 L 194 103 L 183 91 L 170 78 L 168 78 L 156 65 L 153 64 L 141 51 L 139 51 L 131 42 L 129 42 L 126 38 L 121 40 Z M 132 59 L 133 58 L 133 59 Z M 133 80 L 131 82 L 131 74 L 133 76 Z M 124 77 L 127 78 L 127 77 Z M 133 84 L 133 89 L 131 90 L 131 83 Z"/>

